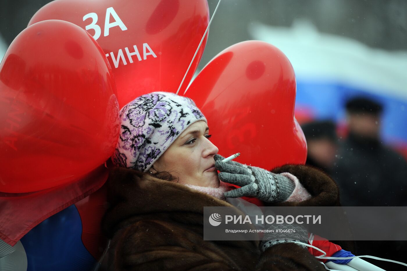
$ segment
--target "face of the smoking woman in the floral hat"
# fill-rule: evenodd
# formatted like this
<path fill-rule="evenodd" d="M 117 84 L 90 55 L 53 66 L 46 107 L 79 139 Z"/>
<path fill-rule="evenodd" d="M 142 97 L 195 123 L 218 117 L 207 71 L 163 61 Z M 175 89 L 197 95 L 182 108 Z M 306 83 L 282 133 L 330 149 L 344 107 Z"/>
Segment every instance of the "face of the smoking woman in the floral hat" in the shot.
<path fill-rule="evenodd" d="M 209 141 L 209 128 L 203 120 L 191 124 L 153 164 L 153 173 L 167 171 L 180 184 L 219 187 L 213 156 L 218 148 Z"/>

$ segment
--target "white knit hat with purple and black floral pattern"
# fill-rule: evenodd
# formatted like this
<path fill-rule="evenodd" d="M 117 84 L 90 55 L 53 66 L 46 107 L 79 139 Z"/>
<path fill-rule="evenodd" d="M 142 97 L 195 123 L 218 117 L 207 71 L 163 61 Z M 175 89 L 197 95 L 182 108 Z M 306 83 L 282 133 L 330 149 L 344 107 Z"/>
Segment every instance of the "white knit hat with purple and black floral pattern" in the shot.
<path fill-rule="evenodd" d="M 120 110 L 113 164 L 146 172 L 189 125 L 205 116 L 194 101 L 170 92 L 137 97 Z"/>

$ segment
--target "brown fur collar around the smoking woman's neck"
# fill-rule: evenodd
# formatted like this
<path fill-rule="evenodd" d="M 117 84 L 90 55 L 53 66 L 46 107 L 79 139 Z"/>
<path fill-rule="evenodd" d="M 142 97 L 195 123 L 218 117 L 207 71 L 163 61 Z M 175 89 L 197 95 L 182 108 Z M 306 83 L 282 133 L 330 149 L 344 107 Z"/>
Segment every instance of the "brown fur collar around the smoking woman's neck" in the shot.
<path fill-rule="evenodd" d="M 110 207 L 103 219 L 103 230 L 107 236 L 123 227 L 124 221 L 131 217 L 166 216 L 171 220 L 179 219 L 188 223 L 186 220 L 192 216 L 182 218 L 179 214 L 188 212 L 203 216 L 204 206 L 232 206 L 186 185 L 123 167 L 110 170 L 107 189 Z M 220 189 L 226 188 L 222 186 Z M 202 224 L 203 220 L 200 218 L 189 223 Z"/>

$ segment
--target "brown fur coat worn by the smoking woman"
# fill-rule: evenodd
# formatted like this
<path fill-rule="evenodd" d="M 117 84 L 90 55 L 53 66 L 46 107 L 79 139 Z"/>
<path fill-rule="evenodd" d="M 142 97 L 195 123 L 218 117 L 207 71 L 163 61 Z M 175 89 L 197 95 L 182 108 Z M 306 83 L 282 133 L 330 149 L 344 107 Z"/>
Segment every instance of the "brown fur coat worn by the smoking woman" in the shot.
<path fill-rule="evenodd" d="M 283 166 L 312 195 L 280 206 L 339 205 L 335 182 L 309 166 Z M 232 206 L 182 184 L 126 168 L 107 182 L 111 207 L 103 230 L 112 238 L 103 270 L 325 270 L 304 248 L 278 244 L 261 253 L 258 241 L 203 240 L 203 207 Z"/>

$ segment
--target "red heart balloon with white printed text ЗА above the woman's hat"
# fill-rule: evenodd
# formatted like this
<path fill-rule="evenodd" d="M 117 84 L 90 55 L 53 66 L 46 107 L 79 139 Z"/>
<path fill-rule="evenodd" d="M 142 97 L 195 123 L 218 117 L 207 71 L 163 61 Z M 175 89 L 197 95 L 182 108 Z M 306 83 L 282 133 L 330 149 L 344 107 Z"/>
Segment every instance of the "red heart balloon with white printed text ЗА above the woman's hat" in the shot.
<path fill-rule="evenodd" d="M 72 22 L 94 36 L 112 66 L 121 108 L 142 94 L 177 91 L 208 26 L 209 9 L 206 0 L 56 0 L 28 25 L 50 19 Z"/>

